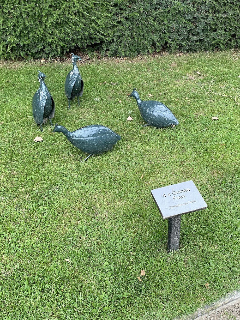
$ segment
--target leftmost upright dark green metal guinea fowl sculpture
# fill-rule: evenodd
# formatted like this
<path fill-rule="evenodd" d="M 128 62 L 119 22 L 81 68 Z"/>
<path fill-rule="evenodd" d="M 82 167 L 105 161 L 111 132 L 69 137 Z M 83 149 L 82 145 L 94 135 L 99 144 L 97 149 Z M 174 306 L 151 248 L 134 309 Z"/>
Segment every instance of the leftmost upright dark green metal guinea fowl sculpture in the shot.
<path fill-rule="evenodd" d="M 39 89 L 35 92 L 32 100 L 33 118 L 36 124 L 40 124 L 41 131 L 43 131 L 42 124 L 49 119 L 52 126 L 52 118 L 55 112 L 55 105 L 51 94 L 49 93 L 44 79 L 44 73 L 38 72 L 38 80 L 40 82 Z"/>

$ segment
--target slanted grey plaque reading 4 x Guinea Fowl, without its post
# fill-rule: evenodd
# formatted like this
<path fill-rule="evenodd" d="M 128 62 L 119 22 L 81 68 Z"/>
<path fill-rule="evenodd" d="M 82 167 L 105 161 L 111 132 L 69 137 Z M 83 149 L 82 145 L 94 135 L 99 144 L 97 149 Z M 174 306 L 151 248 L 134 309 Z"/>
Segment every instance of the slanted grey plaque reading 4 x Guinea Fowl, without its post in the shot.
<path fill-rule="evenodd" d="M 163 219 L 203 210 L 207 207 L 192 180 L 151 190 L 151 195 Z"/>

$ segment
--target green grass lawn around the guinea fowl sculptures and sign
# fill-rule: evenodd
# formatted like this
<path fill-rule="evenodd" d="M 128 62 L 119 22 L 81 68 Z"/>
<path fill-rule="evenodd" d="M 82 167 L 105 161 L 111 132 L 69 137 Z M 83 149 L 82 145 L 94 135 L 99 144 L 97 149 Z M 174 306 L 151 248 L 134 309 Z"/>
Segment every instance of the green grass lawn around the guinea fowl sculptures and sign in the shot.
<path fill-rule="evenodd" d="M 84 94 L 70 110 L 71 64 L 40 63 L 0 65 L 0 318 L 173 319 L 238 288 L 240 68 L 232 52 L 78 63 Z M 111 151 L 82 162 L 87 154 L 49 122 L 39 131 L 37 70 L 55 101 L 53 123 L 106 125 L 122 137 Z M 127 99 L 133 88 L 180 124 L 142 127 Z M 187 180 L 208 208 L 182 216 L 180 250 L 168 254 L 168 222 L 150 190 Z"/>

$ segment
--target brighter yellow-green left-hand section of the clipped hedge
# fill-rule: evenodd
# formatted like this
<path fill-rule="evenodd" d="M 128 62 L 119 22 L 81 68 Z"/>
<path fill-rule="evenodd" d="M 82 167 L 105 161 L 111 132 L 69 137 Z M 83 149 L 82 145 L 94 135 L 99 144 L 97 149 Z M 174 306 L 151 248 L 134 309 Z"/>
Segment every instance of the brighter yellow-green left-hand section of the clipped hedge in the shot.
<path fill-rule="evenodd" d="M 113 23 L 107 1 L 4 0 L 0 57 L 51 57 L 106 41 Z"/>

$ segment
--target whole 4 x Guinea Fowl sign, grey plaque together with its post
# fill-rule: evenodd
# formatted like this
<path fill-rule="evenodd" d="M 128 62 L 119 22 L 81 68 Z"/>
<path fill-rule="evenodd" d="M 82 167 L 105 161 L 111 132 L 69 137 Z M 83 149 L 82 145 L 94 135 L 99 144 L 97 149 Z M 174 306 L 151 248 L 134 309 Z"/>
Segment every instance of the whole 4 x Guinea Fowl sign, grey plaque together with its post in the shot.
<path fill-rule="evenodd" d="M 179 249 L 181 215 L 206 209 L 192 180 L 151 190 L 163 219 L 168 219 L 168 252 Z"/>

